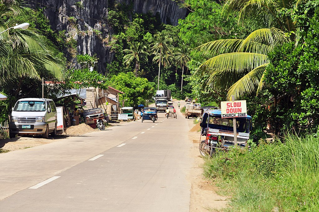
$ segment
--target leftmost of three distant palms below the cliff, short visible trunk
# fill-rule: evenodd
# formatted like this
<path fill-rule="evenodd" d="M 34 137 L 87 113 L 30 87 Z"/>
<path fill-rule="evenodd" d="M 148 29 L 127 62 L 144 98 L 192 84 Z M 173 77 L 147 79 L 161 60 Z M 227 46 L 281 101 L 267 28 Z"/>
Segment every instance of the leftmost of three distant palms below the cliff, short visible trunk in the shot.
<path fill-rule="evenodd" d="M 126 53 L 124 63 L 127 67 L 134 61 L 135 62 L 135 76 L 137 77 L 137 71 L 139 70 L 140 61 L 147 61 L 150 54 L 146 51 L 146 46 L 140 42 L 127 42 L 130 45 L 130 49 L 124 49 Z"/>

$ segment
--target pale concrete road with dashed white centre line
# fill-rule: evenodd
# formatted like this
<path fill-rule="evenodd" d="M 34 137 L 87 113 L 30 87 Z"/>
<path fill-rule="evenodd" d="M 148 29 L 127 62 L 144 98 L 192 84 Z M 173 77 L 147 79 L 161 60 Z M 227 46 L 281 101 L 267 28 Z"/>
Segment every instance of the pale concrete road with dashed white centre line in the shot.
<path fill-rule="evenodd" d="M 0 210 L 189 211 L 188 130 L 179 112 L 159 113 L 0 154 Z"/>

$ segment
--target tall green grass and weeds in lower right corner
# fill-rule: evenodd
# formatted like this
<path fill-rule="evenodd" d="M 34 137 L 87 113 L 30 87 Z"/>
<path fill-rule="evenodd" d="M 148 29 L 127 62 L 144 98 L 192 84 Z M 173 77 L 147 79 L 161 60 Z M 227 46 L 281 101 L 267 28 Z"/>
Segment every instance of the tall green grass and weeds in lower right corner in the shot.
<path fill-rule="evenodd" d="M 319 139 L 287 135 L 286 143 L 217 152 L 204 164 L 225 211 L 319 211 Z"/>

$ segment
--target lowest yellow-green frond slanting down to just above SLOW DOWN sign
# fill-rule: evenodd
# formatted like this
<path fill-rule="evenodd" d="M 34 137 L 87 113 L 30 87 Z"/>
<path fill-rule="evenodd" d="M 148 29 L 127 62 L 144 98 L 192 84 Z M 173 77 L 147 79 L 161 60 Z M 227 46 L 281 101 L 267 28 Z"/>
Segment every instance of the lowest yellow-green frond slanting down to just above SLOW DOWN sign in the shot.
<path fill-rule="evenodd" d="M 256 90 L 256 87 L 260 84 L 260 79 L 263 76 L 265 68 L 268 64 L 262 64 L 255 69 L 248 72 L 240 80 L 236 81 L 229 89 L 227 93 L 227 98 L 232 99 L 232 95 L 235 99 L 245 94 L 251 94 Z"/>

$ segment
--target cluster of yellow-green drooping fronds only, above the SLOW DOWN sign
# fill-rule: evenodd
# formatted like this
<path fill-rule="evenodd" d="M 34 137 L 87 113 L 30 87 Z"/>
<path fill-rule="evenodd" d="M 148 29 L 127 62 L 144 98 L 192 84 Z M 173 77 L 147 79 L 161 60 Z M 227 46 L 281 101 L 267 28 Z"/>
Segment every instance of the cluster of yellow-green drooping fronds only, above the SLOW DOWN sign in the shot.
<path fill-rule="evenodd" d="M 207 87 L 228 89 L 227 98 L 251 94 L 263 86 L 267 57 L 275 46 L 287 42 L 285 33 L 277 28 L 252 32 L 246 39 L 224 39 L 205 43 L 197 50 L 212 57 L 200 65 L 197 73 L 209 72 Z M 234 83 L 235 82 L 235 83 Z"/>

